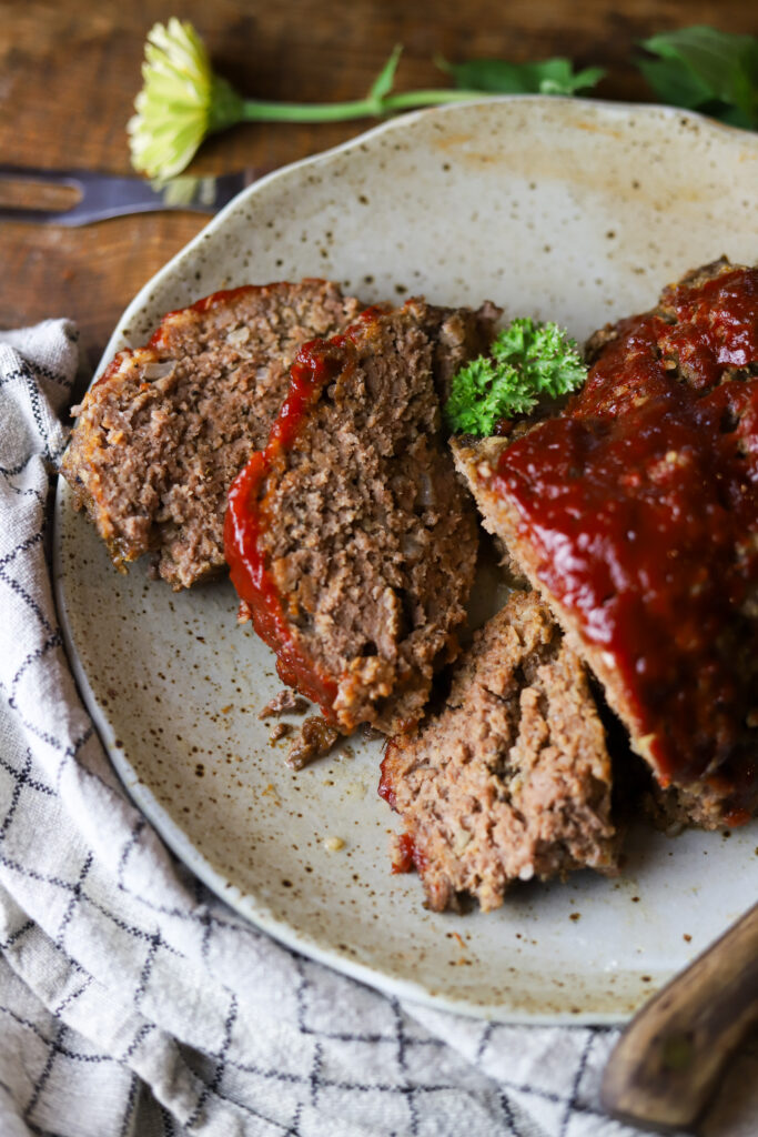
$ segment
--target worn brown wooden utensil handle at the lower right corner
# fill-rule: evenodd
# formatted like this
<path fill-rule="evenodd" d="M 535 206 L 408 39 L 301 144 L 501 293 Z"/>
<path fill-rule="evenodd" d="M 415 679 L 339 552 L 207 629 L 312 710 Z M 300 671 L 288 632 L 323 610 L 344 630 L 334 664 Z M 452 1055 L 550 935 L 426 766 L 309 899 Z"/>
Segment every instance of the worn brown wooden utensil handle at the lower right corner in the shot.
<path fill-rule="evenodd" d="M 603 1107 L 644 1129 L 688 1129 L 757 1019 L 758 905 L 635 1015 L 606 1067 Z"/>

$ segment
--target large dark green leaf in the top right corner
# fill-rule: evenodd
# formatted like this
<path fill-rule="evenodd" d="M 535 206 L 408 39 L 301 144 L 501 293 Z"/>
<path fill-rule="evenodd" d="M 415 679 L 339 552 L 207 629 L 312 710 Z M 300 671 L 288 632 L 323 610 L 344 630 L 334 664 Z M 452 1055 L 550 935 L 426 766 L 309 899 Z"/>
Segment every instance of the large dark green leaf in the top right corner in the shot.
<path fill-rule="evenodd" d="M 638 66 L 664 102 L 758 128 L 758 39 L 695 25 L 642 41 Z"/>

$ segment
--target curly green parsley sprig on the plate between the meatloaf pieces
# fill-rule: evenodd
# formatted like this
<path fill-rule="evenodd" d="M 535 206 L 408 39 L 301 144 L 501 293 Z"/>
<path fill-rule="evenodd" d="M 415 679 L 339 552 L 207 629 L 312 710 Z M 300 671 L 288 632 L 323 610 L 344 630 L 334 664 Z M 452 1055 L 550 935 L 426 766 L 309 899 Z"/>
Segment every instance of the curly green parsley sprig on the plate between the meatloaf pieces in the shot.
<path fill-rule="evenodd" d="M 459 434 L 492 434 L 501 418 L 528 414 L 540 398 L 559 398 L 586 379 L 576 341 L 552 323 L 514 319 L 453 377 L 444 417 Z"/>

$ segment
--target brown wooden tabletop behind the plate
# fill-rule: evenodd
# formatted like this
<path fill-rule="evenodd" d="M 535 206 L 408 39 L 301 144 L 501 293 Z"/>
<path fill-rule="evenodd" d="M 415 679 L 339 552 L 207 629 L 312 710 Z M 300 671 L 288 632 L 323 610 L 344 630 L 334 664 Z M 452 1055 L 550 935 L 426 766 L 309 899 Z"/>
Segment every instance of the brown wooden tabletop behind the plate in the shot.
<path fill-rule="evenodd" d="M 195 24 L 243 94 L 295 101 L 363 96 L 395 43 L 405 44 L 399 90 L 444 85 L 435 56 L 567 55 L 608 69 L 598 96 L 648 99 L 630 63 L 640 39 L 694 23 L 758 32 L 745 0 L 0 0 L 0 161 L 130 173 L 124 127 L 144 36 L 174 11 Z M 192 172 L 272 169 L 370 125 L 239 126 L 207 143 Z M 0 326 L 70 316 L 94 366 L 128 300 L 203 224 L 189 213 L 76 230 L 0 223 Z"/>

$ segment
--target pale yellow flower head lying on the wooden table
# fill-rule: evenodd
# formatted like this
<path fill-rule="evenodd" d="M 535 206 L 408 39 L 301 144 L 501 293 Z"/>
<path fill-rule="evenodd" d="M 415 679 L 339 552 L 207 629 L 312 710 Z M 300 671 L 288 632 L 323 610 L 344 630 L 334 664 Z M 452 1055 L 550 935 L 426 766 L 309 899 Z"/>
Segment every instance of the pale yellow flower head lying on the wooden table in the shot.
<path fill-rule="evenodd" d="M 207 134 L 240 118 L 241 100 L 214 75 L 206 45 L 192 24 L 172 17 L 148 33 L 144 85 L 127 131 L 132 164 L 149 177 L 178 174 Z"/>

